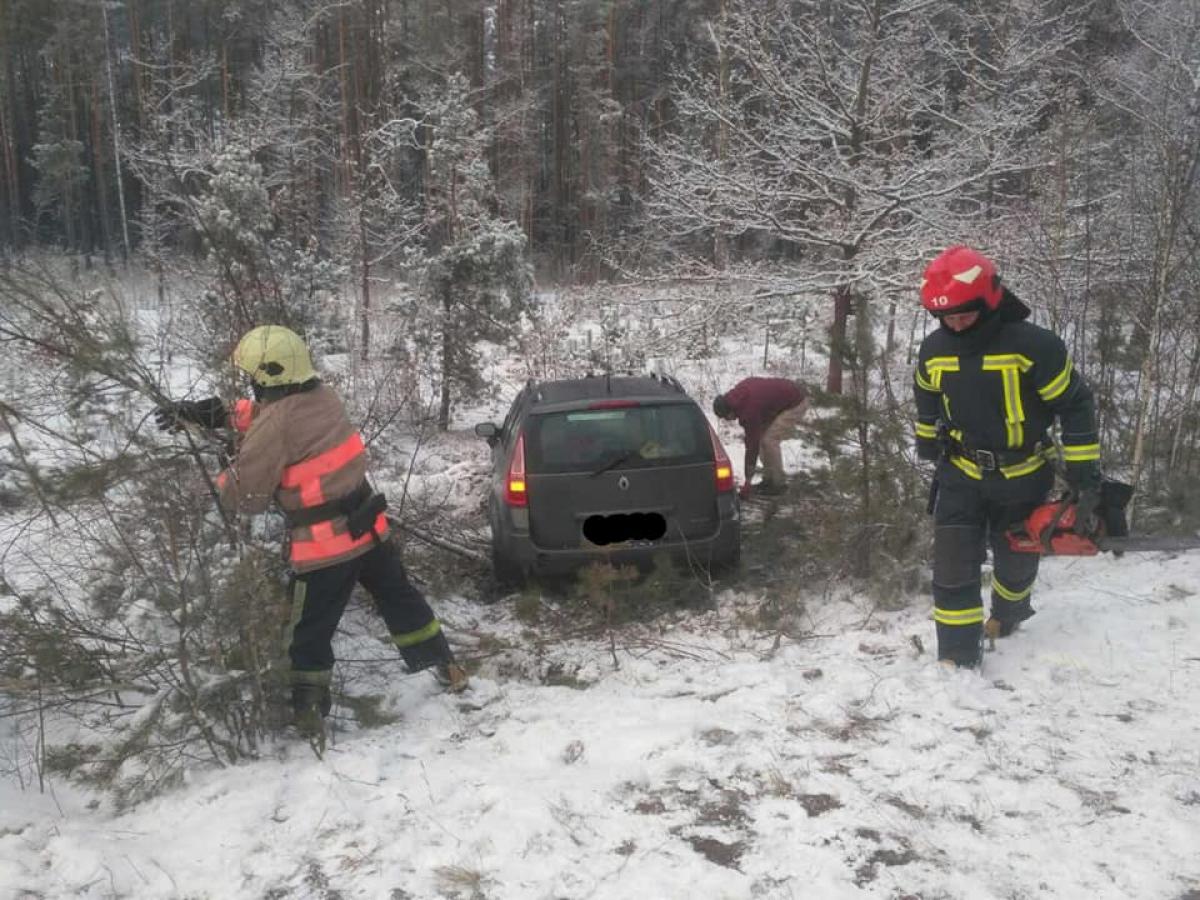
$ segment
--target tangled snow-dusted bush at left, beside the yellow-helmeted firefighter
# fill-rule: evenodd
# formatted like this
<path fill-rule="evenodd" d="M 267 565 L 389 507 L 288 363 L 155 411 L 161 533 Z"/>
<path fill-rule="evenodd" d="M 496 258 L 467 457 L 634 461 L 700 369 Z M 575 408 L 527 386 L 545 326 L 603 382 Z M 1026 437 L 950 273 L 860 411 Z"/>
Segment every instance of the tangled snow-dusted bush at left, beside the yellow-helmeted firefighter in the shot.
<path fill-rule="evenodd" d="M 223 520 L 216 448 L 154 428 L 162 395 L 115 298 L 0 281 L 10 365 L 37 373 L 5 406 L 20 451 L 0 562 L 0 702 L 26 764 L 134 800 L 257 755 L 280 724 L 282 528 Z"/>

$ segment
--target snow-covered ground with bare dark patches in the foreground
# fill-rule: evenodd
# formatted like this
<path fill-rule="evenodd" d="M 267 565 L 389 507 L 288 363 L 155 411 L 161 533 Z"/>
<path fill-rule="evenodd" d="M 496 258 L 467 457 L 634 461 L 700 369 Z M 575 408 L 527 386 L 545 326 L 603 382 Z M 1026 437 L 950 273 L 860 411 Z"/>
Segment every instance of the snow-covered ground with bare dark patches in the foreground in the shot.
<path fill-rule="evenodd" d="M 389 662 L 401 721 L 324 761 L 281 744 L 116 816 L 0 784 L 0 895 L 1200 898 L 1200 554 L 1039 584 L 982 676 L 918 650 L 919 601 L 776 642 L 732 593 L 460 697 Z M 534 644 L 511 605 L 438 608 L 461 647 Z"/>

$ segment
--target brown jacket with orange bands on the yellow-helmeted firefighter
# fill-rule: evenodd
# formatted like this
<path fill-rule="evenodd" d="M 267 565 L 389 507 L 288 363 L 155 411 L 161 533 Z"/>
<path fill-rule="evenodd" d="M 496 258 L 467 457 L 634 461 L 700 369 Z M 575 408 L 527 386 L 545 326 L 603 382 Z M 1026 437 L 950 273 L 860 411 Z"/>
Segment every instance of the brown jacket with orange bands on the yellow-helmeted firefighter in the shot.
<path fill-rule="evenodd" d="M 276 500 L 295 512 L 342 499 L 359 487 L 367 473 L 362 439 L 346 415 L 338 396 L 324 384 L 258 404 L 238 457 L 221 473 L 221 506 L 230 512 L 263 512 Z M 380 514 L 376 532 L 388 529 Z M 353 539 L 346 516 L 292 528 L 289 551 L 298 572 L 324 569 L 362 556 L 373 546 L 371 534 Z"/>

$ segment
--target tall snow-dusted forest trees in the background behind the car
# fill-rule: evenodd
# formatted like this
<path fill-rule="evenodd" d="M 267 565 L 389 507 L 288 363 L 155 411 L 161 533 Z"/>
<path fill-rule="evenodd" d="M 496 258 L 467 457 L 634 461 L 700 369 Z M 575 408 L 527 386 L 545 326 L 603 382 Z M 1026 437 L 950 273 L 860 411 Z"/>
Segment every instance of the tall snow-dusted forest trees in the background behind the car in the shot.
<path fill-rule="evenodd" d="M 1195 443 L 1196 19 L 1186 0 L 6 0 L 0 247 L 182 276 L 221 349 L 324 314 L 366 355 L 379 286 L 414 284 L 433 311 L 410 329 L 460 338 L 445 427 L 479 386 L 472 338 L 529 306 L 526 262 L 541 284 L 722 286 L 722 329 L 785 343 L 828 312 L 840 394 L 845 362 L 872 365 L 847 323 L 908 311 L 924 260 L 977 244 L 1069 337 L 1114 460 L 1157 485 Z"/>

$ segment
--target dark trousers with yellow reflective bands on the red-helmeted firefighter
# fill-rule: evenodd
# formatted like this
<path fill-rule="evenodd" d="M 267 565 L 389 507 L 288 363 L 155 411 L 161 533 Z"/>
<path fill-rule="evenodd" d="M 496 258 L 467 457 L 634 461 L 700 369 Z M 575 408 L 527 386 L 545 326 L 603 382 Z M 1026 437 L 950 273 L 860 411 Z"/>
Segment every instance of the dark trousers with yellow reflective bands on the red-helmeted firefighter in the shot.
<path fill-rule="evenodd" d="M 991 614 L 1013 626 L 1033 614 L 1037 553 L 1018 553 L 1004 538 L 1038 506 L 1054 484 L 1050 466 L 1020 478 L 998 472 L 973 479 L 943 461 L 937 467 L 934 510 L 934 622 L 937 658 L 961 666 L 979 662 L 983 640 L 980 566 L 991 545 Z"/>

